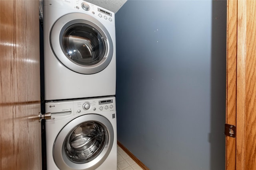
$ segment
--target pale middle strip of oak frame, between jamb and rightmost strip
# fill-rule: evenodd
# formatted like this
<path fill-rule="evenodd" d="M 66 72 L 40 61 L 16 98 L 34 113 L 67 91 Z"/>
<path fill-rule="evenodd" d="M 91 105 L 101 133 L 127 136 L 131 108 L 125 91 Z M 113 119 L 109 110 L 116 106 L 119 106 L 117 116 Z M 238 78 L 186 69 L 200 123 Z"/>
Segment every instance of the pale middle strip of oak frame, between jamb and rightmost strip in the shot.
<path fill-rule="evenodd" d="M 245 170 L 246 1 L 238 0 L 237 13 L 236 169 Z"/>

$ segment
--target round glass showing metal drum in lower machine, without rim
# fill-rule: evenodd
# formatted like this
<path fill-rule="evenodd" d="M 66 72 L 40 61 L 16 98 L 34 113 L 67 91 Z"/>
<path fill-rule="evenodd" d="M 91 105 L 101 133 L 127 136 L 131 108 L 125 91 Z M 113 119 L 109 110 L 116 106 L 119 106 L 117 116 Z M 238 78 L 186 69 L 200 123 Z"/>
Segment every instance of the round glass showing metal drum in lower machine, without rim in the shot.
<path fill-rule="evenodd" d="M 108 142 L 108 131 L 96 121 L 74 127 L 65 139 L 66 156 L 74 163 L 87 163 L 96 158 Z"/>

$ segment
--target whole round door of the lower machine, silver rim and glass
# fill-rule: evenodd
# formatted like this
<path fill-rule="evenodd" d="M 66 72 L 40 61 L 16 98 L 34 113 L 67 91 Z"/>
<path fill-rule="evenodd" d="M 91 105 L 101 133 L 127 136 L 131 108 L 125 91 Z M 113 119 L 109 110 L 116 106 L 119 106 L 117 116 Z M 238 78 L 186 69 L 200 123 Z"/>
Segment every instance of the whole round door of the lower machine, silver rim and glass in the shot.
<path fill-rule="evenodd" d="M 61 170 L 95 170 L 114 143 L 113 127 L 105 117 L 88 114 L 70 121 L 58 134 L 53 157 Z"/>

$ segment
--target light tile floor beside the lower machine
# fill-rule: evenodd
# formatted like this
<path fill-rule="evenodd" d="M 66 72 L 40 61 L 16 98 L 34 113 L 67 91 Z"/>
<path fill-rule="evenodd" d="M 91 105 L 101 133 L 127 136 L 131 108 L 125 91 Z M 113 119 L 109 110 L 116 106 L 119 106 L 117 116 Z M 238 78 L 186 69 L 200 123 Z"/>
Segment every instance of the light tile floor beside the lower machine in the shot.
<path fill-rule="evenodd" d="M 117 170 L 143 170 L 117 145 Z"/>

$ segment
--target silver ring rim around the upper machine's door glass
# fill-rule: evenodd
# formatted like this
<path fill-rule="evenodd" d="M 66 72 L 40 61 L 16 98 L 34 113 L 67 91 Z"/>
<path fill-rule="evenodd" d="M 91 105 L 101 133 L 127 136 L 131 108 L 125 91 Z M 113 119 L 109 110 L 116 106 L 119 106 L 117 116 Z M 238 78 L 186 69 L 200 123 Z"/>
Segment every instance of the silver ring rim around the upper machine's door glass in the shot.
<path fill-rule="evenodd" d="M 74 63 L 71 59 L 68 59 L 66 55 L 63 53 L 62 47 L 62 37 L 64 31 L 73 24 L 76 23 L 84 23 L 94 27 L 103 37 L 106 51 L 103 59 L 94 65 L 84 66 L 82 64 Z M 52 51 L 57 57 L 57 59 L 64 64 L 70 70 L 74 72 L 78 72 L 81 74 L 94 74 L 104 70 L 110 63 L 113 57 L 113 42 L 110 34 L 107 29 L 100 23 L 100 21 L 96 20 L 96 18 L 89 16 L 87 14 L 81 13 L 70 13 L 59 18 L 54 25 L 52 26 L 50 32 L 50 45 L 52 47 Z"/>

